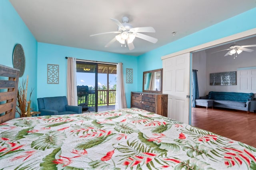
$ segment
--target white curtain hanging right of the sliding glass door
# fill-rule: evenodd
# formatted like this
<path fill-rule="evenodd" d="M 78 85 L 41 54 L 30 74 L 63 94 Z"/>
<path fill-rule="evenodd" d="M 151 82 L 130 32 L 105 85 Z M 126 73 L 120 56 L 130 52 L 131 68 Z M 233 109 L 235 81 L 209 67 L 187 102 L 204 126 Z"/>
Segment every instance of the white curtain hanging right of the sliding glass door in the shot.
<path fill-rule="evenodd" d="M 123 64 L 118 63 L 116 66 L 116 107 L 115 109 L 127 108 L 125 90 L 124 90 L 124 74 L 123 74 Z"/>

